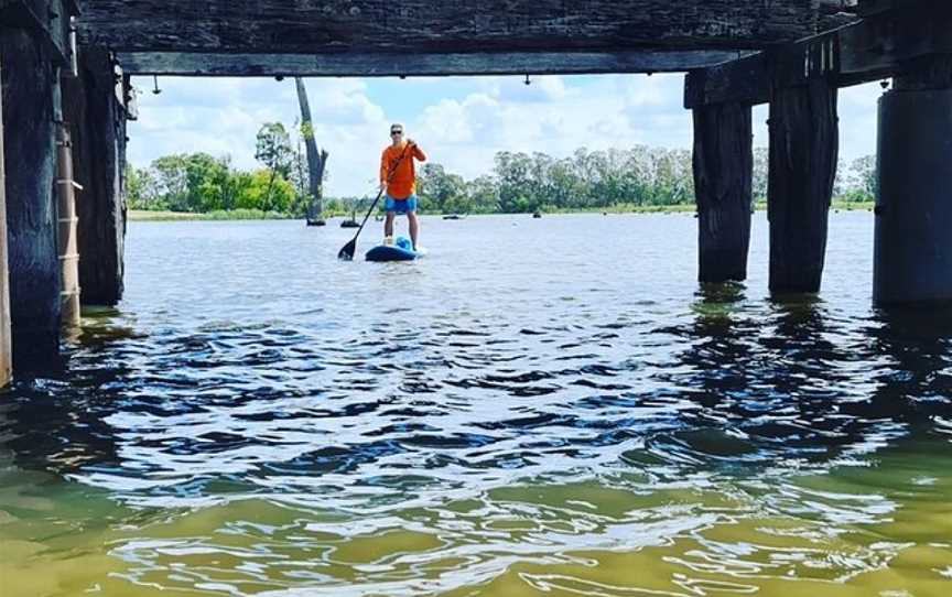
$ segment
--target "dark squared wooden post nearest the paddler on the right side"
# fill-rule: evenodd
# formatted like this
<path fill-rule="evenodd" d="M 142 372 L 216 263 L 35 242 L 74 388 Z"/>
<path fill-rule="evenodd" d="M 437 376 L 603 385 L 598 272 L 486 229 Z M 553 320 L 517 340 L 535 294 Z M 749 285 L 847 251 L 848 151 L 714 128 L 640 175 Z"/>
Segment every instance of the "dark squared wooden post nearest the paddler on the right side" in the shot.
<path fill-rule="evenodd" d="M 699 280 L 746 280 L 754 172 L 750 106 L 694 108 L 693 165 Z"/>

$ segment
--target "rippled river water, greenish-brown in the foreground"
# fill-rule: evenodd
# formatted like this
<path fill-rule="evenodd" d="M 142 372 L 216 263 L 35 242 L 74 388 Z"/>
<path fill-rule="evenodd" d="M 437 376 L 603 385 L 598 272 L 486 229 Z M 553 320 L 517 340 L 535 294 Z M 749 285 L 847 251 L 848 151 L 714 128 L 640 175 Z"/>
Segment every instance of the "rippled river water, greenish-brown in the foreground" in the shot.
<path fill-rule="evenodd" d="M 394 264 L 133 222 L 119 308 L 0 395 L 0 595 L 946 595 L 952 312 L 872 307 L 868 213 L 770 301 L 755 218 L 707 287 L 685 215 Z"/>

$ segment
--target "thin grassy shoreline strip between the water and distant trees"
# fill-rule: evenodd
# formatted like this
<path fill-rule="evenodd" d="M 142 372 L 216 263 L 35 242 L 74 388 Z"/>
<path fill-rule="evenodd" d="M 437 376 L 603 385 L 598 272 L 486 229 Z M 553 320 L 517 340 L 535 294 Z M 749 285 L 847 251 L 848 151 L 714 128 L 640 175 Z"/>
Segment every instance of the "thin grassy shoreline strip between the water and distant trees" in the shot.
<path fill-rule="evenodd" d="M 873 202 L 842 202 L 834 200 L 830 209 L 835 211 L 872 211 L 875 207 Z M 754 208 L 757 211 L 767 209 L 766 203 L 757 203 Z M 570 215 L 570 214 L 685 214 L 696 211 L 694 204 L 678 204 L 678 205 L 618 205 L 606 208 L 593 209 L 565 209 L 542 211 L 543 215 Z M 441 213 L 422 213 L 424 216 L 443 216 Z M 472 214 L 473 216 L 531 216 L 530 213 L 524 214 Z M 209 211 L 207 214 L 195 214 L 191 211 L 150 211 L 144 209 L 130 209 L 128 211 L 130 221 L 228 221 L 228 220 L 272 220 L 272 219 L 302 219 L 286 214 L 275 214 L 273 211 L 260 211 L 257 209 L 236 209 L 232 211 Z M 360 216 L 363 217 L 363 216 Z M 468 217 L 459 216 L 461 219 Z M 349 218 L 339 214 L 328 215 L 327 219 Z M 358 218 L 360 219 L 360 218 Z"/>

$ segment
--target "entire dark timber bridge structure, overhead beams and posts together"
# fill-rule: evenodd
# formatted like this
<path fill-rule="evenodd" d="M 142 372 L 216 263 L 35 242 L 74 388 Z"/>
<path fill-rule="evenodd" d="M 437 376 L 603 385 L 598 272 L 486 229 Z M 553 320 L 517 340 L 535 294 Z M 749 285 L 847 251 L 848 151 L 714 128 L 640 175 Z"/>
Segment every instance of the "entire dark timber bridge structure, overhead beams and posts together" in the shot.
<path fill-rule="evenodd" d="M 60 262 L 76 250 L 57 253 L 63 217 L 53 187 L 69 183 L 69 170 L 83 186 L 84 302 L 121 298 L 137 74 L 690 70 L 699 276 L 746 278 L 750 110 L 769 102 L 778 295 L 820 290 L 837 89 L 891 76 L 880 101 L 875 298 L 952 301 L 950 31 L 948 0 L 0 0 L 0 386 L 11 335 L 18 369 L 53 362 L 58 351 Z"/>

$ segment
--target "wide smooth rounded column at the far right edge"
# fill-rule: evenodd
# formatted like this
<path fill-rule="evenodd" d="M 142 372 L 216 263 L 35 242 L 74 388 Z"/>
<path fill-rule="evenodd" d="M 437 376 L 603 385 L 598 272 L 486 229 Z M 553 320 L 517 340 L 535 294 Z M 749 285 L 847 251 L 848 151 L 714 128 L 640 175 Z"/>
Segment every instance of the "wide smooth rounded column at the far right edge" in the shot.
<path fill-rule="evenodd" d="M 952 56 L 879 99 L 873 300 L 952 301 Z"/>

